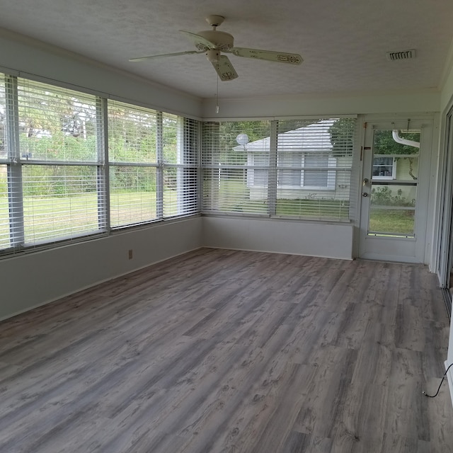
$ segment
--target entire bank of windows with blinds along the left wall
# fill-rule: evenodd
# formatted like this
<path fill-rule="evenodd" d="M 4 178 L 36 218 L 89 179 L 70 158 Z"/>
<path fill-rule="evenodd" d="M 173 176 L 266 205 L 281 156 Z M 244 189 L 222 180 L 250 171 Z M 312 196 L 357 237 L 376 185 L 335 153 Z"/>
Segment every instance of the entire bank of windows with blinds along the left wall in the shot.
<path fill-rule="evenodd" d="M 83 240 L 112 227 L 194 214 L 198 125 L 4 76 L 0 250 Z"/>

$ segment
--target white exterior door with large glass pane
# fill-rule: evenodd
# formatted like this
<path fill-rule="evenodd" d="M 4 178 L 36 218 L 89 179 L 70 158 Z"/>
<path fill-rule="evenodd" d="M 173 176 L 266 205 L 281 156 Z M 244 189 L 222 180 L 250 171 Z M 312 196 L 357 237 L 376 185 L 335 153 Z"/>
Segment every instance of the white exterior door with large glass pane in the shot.
<path fill-rule="evenodd" d="M 431 130 L 421 120 L 367 123 L 360 258 L 423 263 Z"/>

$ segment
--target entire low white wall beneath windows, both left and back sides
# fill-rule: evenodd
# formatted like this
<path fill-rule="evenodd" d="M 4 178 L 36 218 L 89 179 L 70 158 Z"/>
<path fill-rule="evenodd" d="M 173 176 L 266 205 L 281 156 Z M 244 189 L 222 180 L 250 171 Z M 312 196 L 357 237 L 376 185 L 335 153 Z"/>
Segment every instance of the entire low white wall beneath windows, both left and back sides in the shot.
<path fill-rule="evenodd" d="M 190 217 L 4 258 L 0 319 L 202 246 L 351 259 L 352 225 Z"/>

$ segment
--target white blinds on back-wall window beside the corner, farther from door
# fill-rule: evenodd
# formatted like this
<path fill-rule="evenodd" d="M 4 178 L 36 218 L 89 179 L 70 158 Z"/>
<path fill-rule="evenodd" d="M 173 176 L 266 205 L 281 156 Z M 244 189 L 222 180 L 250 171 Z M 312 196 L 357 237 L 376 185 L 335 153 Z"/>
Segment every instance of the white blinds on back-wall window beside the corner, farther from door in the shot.
<path fill-rule="evenodd" d="M 202 210 L 268 213 L 270 121 L 203 123 Z"/>

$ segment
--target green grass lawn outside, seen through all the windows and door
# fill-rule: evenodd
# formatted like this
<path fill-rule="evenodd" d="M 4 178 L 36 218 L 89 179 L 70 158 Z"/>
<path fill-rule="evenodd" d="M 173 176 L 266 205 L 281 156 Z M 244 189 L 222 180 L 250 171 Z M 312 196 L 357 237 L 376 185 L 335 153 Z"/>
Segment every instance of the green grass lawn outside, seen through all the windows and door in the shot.
<path fill-rule="evenodd" d="M 219 209 L 227 212 L 265 214 L 267 202 L 263 200 L 219 200 Z M 177 214 L 176 190 L 164 193 L 165 217 Z M 25 240 L 46 239 L 84 234 L 98 230 L 98 197 L 96 193 L 76 196 L 25 197 Z M 276 214 L 304 219 L 348 219 L 348 202 L 338 200 L 277 200 Z M 413 234 L 413 211 L 371 211 L 369 230 L 374 232 Z M 149 222 L 156 219 L 156 193 L 117 192 L 110 195 L 112 226 Z M 8 200 L 0 197 L 0 248 L 9 246 Z"/>

